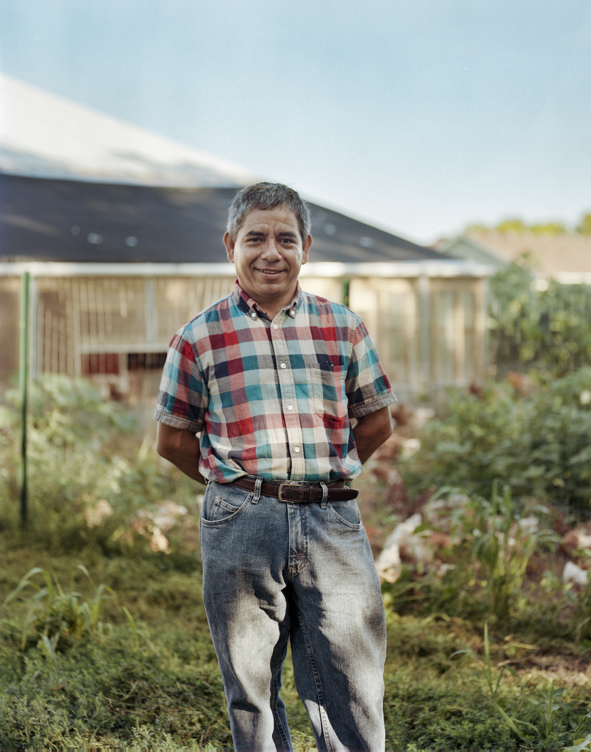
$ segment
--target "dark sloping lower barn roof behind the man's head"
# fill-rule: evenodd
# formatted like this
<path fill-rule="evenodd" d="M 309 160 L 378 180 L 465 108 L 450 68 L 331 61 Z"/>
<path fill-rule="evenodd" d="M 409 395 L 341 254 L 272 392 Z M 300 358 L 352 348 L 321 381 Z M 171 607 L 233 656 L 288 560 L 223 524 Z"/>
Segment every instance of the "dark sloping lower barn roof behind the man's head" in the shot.
<path fill-rule="evenodd" d="M 235 192 L 0 174 L 0 260 L 223 262 Z M 310 209 L 311 261 L 441 261 L 441 253 L 344 214 Z"/>

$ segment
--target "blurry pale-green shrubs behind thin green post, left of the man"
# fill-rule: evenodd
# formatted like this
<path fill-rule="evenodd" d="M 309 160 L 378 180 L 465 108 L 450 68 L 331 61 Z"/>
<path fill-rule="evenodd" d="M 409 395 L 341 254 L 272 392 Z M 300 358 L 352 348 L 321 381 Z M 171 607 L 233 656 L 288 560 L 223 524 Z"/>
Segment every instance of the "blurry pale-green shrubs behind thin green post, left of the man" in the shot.
<path fill-rule="evenodd" d="M 0 405 L 0 529 L 18 540 L 16 404 L 7 392 Z M 29 541 L 54 552 L 95 546 L 147 553 L 163 500 L 195 510 L 199 486 L 156 456 L 150 438 L 141 443 L 135 428 L 132 416 L 88 381 L 53 376 L 32 390 Z M 162 540 L 152 547 L 168 553 Z"/>

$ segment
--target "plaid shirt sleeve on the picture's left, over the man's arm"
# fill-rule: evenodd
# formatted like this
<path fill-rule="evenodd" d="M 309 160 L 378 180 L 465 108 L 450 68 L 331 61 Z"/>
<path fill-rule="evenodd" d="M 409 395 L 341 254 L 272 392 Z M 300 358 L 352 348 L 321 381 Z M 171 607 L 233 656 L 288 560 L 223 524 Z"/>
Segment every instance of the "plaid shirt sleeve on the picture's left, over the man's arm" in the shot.
<path fill-rule="evenodd" d="M 209 390 L 199 356 L 183 327 L 168 345 L 154 420 L 199 433 L 205 425 L 208 404 Z"/>

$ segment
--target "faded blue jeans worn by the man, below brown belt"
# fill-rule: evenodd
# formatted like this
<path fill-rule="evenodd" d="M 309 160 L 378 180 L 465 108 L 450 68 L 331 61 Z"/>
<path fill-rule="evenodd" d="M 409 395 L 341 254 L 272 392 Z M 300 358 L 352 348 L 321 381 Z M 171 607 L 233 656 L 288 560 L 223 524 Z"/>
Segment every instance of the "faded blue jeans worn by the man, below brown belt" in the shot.
<path fill-rule="evenodd" d="M 292 750 L 281 669 L 318 750 L 385 745 L 386 623 L 356 502 L 292 504 L 209 483 L 201 516 L 203 600 L 237 752 Z"/>

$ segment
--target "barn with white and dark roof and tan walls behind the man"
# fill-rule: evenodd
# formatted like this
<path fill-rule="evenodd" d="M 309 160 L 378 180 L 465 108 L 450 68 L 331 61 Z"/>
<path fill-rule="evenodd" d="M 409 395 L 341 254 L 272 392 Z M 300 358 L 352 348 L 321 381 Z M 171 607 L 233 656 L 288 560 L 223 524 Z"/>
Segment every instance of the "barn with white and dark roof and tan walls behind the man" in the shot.
<path fill-rule="evenodd" d="M 17 370 L 28 271 L 31 378 L 89 378 L 105 395 L 152 405 L 171 334 L 232 289 L 221 240 L 227 208 L 255 178 L 7 80 L 0 387 Z M 26 117 L 40 101 L 52 117 Z M 310 208 L 314 242 L 302 287 L 362 317 L 402 399 L 483 377 L 489 267 Z"/>

